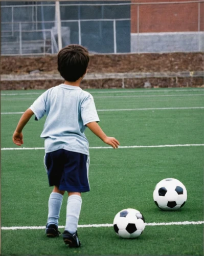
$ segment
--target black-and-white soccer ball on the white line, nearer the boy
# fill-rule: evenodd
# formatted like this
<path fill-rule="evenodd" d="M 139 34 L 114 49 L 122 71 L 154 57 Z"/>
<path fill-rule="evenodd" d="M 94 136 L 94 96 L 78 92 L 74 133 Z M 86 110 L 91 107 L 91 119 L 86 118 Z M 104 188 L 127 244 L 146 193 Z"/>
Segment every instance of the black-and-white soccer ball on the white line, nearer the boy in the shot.
<path fill-rule="evenodd" d="M 114 230 L 119 237 L 137 238 L 145 228 L 145 219 L 139 210 L 124 209 L 114 218 Z"/>

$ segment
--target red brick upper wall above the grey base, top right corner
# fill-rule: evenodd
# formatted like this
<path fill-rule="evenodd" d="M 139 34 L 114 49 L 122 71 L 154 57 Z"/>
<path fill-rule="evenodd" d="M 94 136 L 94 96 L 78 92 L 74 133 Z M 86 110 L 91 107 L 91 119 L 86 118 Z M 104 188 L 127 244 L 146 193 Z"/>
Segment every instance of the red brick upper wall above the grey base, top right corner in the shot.
<path fill-rule="evenodd" d="M 183 2 L 184 0 L 144 0 L 132 3 Z M 204 3 L 148 4 L 139 6 L 139 32 L 197 32 L 204 30 Z M 138 5 L 131 5 L 131 33 L 138 32 Z"/>

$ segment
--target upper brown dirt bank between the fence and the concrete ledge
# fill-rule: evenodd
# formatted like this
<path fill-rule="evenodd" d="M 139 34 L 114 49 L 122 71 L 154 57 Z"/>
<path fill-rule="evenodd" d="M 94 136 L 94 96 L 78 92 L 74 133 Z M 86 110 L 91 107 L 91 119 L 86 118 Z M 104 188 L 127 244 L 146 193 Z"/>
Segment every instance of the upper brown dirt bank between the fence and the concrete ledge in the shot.
<path fill-rule="evenodd" d="M 202 71 L 203 53 L 90 55 L 89 73 Z M 57 73 L 57 56 L 2 56 L 1 74 Z"/>

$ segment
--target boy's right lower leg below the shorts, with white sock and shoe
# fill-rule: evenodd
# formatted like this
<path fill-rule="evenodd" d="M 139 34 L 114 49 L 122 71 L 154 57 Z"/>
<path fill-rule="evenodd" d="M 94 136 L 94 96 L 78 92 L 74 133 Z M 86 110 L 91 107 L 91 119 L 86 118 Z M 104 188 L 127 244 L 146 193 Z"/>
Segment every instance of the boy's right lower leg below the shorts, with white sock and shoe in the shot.
<path fill-rule="evenodd" d="M 70 247 L 79 247 L 81 243 L 77 235 L 77 226 L 82 204 L 81 193 L 68 192 L 68 195 L 66 224 L 62 236 L 65 244 L 69 244 Z"/>

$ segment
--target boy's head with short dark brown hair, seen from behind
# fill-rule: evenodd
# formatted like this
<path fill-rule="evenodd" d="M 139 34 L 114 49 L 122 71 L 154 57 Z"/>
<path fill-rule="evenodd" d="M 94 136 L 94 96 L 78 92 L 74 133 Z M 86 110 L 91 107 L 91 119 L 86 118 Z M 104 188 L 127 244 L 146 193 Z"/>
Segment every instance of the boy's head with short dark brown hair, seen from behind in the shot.
<path fill-rule="evenodd" d="M 57 55 L 57 69 L 60 75 L 70 82 L 75 82 L 86 73 L 88 62 L 88 51 L 80 45 L 68 45 Z"/>

